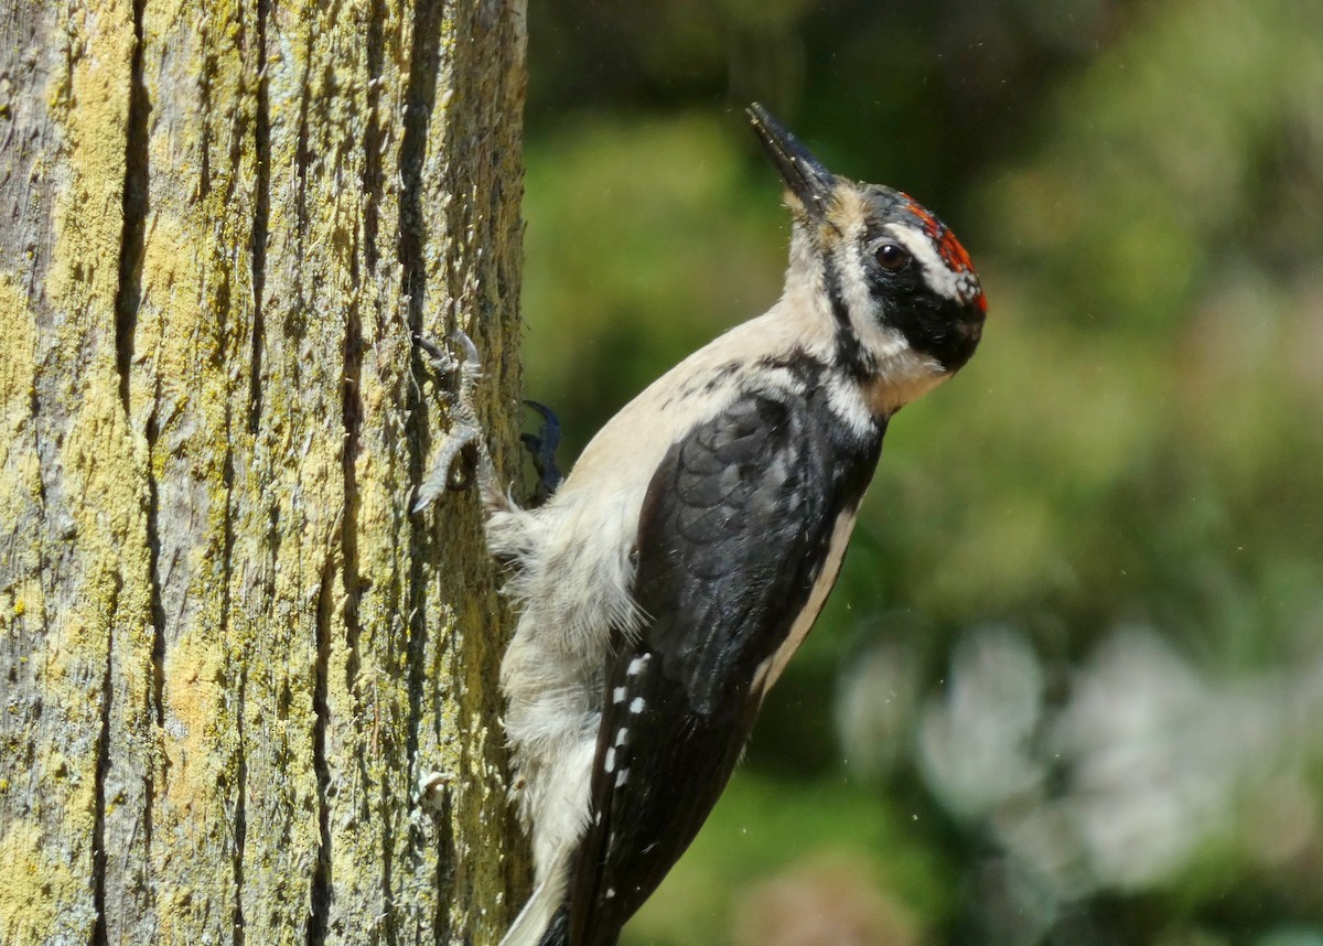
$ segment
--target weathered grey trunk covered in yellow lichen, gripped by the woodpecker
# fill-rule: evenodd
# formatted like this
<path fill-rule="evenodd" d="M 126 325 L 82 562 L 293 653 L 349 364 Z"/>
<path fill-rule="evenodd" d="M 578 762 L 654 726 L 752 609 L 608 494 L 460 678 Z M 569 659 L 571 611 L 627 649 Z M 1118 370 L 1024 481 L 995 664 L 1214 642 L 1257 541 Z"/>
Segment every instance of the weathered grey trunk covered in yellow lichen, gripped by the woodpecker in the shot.
<path fill-rule="evenodd" d="M 521 0 L 4 7 L 0 942 L 493 939 Z"/>

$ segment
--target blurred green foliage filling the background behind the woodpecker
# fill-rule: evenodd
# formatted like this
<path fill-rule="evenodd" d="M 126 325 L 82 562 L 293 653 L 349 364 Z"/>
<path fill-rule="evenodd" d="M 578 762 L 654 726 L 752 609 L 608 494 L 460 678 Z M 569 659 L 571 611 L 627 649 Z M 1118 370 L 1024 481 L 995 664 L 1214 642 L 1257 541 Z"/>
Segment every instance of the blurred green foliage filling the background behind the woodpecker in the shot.
<path fill-rule="evenodd" d="M 909 917 L 860 942 L 1323 942 L 1323 4 L 557 0 L 529 16 L 525 378 L 566 456 L 779 292 L 789 224 L 749 99 L 832 169 L 942 214 L 991 303 L 970 366 L 893 422 L 831 605 L 630 942 L 746 942 L 741 898 L 824 851 Z M 1016 737 L 1039 775 L 971 820 L 925 738 L 943 707 L 960 718 L 975 671 L 955 651 L 994 624 L 1040 668 Z M 1171 660 L 1150 689 L 1115 669 L 1146 666 L 1126 663 L 1136 640 Z M 880 643 L 901 647 L 886 672 L 910 693 L 892 707 L 898 761 L 851 766 L 872 730 L 841 724 L 839 681 L 885 701 L 856 672 Z M 1262 752 L 1218 754 L 1216 732 L 1192 749 L 1228 707 L 1224 741 Z M 1170 745 L 1154 757 L 1176 770 L 1122 769 L 1118 785 L 1156 789 L 1117 790 L 1118 824 L 1203 803 L 1163 786 L 1228 786 L 1160 869 L 1106 867 L 1109 839 L 1081 827 L 1110 724 L 1148 740 L 1117 736 L 1115 758 Z M 1027 845 L 1033 826 L 1074 838 L 1050 849 L 1084 867 L 1024 855 L 1050 847 Z"/>

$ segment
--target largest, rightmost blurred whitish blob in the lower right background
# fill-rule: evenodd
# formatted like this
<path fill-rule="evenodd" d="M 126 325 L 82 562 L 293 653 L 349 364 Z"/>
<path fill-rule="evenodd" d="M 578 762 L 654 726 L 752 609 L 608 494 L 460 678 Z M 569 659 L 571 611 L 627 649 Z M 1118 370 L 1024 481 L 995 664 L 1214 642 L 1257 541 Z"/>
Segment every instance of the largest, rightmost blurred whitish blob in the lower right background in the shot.
<path fill-rule="evenodd" d="M 1248 781 L 1282 750 L 1277 681 L 1216 685 L 1148 631 L 1109 639 L 1081 671 L 1052 745 L 1097 881 L 1134 889 L 1230 834 Z"/>

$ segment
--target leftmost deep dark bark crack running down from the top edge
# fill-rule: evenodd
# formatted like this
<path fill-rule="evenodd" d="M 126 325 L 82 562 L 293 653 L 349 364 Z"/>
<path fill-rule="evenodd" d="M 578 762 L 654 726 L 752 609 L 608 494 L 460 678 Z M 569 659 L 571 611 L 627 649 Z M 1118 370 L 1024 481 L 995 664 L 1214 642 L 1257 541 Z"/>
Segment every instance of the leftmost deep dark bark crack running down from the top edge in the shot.
<path fill-rule="evenodd" d="M 143 298 L 143 236 L 147 221 L 147 83 L 143 81 L 143 11 L 147 0 L 134 0 L 134 54 L 130 66 L 128 119 L 124 128 L 124 229 L 119 241 L 119 286 L 115 290 L 115 368 L 119 370 L 119 401 L 128 413 L 130 364 L 134 333 Z"/>

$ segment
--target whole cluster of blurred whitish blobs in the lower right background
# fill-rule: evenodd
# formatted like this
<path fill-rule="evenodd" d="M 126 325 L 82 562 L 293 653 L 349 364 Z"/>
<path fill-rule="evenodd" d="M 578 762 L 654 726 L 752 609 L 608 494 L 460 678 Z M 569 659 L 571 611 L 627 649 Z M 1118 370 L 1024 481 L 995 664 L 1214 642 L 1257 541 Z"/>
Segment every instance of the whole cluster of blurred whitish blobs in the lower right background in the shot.
<path fill-rule="evenodd" d="M 868 758 L 869 738 L 900 742 L 909 712 L 877 693 L 918 705 L 906 658 L 889 646 L 851 669 L 839 718 L 852 754 Z M 943 807 L 995 841 L 970 909 L 1000 941 L 1040 942 L 1069 904 L 1168 882 L 1211 843 L 1246 869 L 1290 869 L 1323 849 L 1311 781 L 1323 655 L 1218 679 L 1127 627 L 1057 708 L 1024 635 L 990 627 L 955 647 L 945 683 L 914 724 L 916 763 Z"/>

